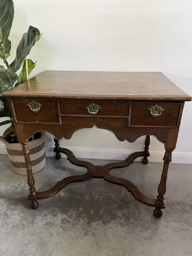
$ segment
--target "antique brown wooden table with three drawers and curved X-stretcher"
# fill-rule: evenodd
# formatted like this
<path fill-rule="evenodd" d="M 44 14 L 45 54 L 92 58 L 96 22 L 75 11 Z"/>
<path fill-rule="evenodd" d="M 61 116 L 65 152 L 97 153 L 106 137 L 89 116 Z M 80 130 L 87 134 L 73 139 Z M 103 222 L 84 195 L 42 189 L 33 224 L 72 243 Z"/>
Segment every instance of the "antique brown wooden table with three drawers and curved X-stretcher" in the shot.
<path fill-rule="evenodd" d="M 162 216 L 168 166 L 176 147 L 184 102 L 192 100 L 162 73 L 45 71 L 2 96 L 9 98 L 16 134 L 22 144 L 32 209 L 38 208 L 38 199 L 49 198 L 72 182 L 104 178 L 124 186 L 143 204 L 155 207 L 157 218 Z M 133 153 L 122 162 L 94 166 L 60 148 L 60 139 L 70 139 L 76 130 L 93 126 L 110 130 L 120 141 L 134 142 L 146 135 L 144 151 Z M 46 191 L 36 191 L 28 138 L 37 131 L 54 136 L 57 159 L 60 152 L 66 154 L 72 164 L 87 168 L 86 174 L 64 178 Z M 110 175 L 113 168 L 126 167 L 139 156 L 144 156 L 142 162 L 147 164 L 150 135 L 165 145 L 157 199 L 144 196 L 132 182 Z"/>

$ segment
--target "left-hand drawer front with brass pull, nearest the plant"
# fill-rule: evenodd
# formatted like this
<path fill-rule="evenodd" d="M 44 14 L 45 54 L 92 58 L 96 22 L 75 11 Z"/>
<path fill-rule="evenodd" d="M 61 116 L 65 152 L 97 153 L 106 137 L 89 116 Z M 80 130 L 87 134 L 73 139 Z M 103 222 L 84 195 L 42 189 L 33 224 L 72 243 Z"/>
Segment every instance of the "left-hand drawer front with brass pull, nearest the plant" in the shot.
<path fill-rule="evenodd" d="M 58 123 L 57 100 L 14 98 L 13 103 L 18 122 Z"/>

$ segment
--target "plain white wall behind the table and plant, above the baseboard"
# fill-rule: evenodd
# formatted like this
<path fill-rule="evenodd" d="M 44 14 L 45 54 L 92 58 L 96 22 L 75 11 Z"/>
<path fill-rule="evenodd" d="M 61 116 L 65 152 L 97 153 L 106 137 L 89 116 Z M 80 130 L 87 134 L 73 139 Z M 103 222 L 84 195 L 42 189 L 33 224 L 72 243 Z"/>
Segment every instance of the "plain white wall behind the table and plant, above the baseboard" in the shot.
<path fill-rule="evenodd" d="M 28 56 L 37 60 L 32 76 L 44 70 L 160 71 L 192 94 L 190 0 L 14 0 L 14 4 L 9 61 L 29 25 L 43 32 Z M 174 162 L 192 164 L 191 110 L 192 103 L 187 102 Z M 142 150 L 143 140 L 119 142 L 112 133 L 92 128 L 79 130 L 61 144 L 79 157 L 122 159 L 132 150 Z M 47 155 L 52 155 L 50 146 L 49 135 Z M 152 138 L 150 150 L 150 160 L 162 161 L 163 144 Z"/>

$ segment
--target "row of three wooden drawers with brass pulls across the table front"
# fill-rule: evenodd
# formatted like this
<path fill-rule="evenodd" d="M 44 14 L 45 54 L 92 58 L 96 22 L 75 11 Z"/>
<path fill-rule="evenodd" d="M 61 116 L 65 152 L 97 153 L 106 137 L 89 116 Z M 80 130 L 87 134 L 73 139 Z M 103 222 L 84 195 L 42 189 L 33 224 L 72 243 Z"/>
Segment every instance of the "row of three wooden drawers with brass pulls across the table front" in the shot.
<path fill-rule="evenodd" d="M 59 116 L 127 118 L 127 126 L 176 127 L 180 102 L 52 100 L 14 98 L 18 122 L 57 123 Z M 74 118 L 74 122 L 76 122 Z M 83 119 L 81 119 L 83 120 Z"/>

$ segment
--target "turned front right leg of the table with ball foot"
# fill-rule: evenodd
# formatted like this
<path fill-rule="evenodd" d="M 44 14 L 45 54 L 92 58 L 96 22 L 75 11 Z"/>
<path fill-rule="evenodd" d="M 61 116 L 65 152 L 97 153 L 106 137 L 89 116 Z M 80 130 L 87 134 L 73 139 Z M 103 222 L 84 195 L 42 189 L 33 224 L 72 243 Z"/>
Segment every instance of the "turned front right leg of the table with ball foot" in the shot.
<path fill-rule="evenodd" d="M 154 216 L 156 218 L 160 218 L 162 216 L 162 206 L 164 205 L 164 194 L 166 193 L 166 180 L 167 180 L 167 173 L 168 173 L 168 168 L 169 168 L 169 163 L 172 160 L 172 151 L 166 148 L 165 154 L 164 154 L 164 165 L 163 165 L 163 171 L 161 175 L 161 181 L 158 186 L 158 196 L 156 200 L 156 208 L 153 212 Z"/>

